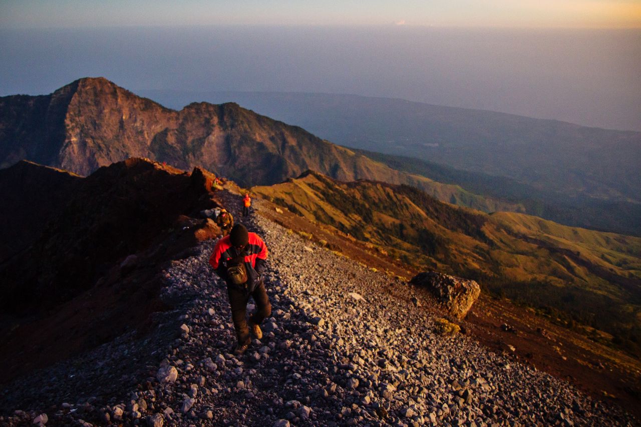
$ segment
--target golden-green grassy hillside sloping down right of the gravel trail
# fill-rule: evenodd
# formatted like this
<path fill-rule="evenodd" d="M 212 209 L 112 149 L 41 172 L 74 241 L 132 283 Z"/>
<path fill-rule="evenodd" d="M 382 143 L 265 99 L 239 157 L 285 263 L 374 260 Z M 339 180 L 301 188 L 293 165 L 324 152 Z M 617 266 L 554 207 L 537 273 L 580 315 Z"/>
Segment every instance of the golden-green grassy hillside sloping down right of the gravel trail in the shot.
<path fill-rule="evenodd" d="M 641 355 L 641 238 L 488 215 L 406 185 L 315 172 L 253 190 L 408 264 L 478 280 L 486 292 Z"/>

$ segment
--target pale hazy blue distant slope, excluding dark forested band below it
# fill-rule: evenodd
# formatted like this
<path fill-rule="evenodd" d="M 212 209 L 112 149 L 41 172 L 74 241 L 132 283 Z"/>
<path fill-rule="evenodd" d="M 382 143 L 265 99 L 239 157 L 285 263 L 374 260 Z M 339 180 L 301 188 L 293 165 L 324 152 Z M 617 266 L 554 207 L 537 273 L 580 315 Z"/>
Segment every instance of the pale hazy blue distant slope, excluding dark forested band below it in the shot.
<path fill-rule="evenodd" d="M 513 178 L 545 191 L 641 202 L 641 132 L 380 97 L 142 91 L 168 106 L 234 100 L 342 146 Z"/>

